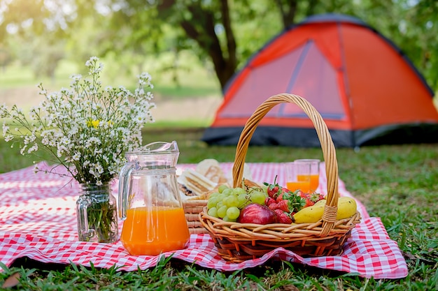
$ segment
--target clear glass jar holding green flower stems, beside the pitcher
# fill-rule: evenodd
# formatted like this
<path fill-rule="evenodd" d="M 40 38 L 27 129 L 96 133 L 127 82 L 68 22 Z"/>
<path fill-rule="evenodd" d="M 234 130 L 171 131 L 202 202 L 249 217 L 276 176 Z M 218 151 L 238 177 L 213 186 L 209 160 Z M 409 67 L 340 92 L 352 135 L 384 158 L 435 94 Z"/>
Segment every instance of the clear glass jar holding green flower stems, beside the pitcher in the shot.
<path fill-rule="evenodd" d="M 79 194 L 76 201 L 79 240 L 115 242 L 118 239 L 117 204 L 109 184 L 80 184 Z"/>

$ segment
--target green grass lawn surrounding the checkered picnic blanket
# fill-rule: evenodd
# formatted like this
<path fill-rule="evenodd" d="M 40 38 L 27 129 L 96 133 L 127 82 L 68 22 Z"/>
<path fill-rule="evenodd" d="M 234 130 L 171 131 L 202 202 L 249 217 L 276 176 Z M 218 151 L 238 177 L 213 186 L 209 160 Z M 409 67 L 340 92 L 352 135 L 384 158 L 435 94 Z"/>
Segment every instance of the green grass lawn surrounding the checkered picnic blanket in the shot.
<path fill-rule="evenodd" d="M 158 126 L 146 130 L 143 140 L 176 140 L 181 151 L 178 163 L 204 158 L 234 161 L 234 147 L 208 147 L 199 141 L 202 132 L 202 128 Z M 0 172 L 31 165 L 34 158 L 17 152 L 0 142 Z M 322 159 L 322 154 L 318 148 L 250 147 L 246 161 L 284 162 L 302 157 Z M 339 177 L 348 191 L 365 204 L 371 216 L 382 219 L 390 238 L 399 244 L 409 267 L 406 278 L 366 279 L 288 262 L 222 273 L 162 260 L 147 270 L 125 272 L 21 259 L 10 268 L 1 266 L 0 286 L 18 272 L 20 290 L 437 290 L 438 144 L 337 149 L 337 160 Z"/>

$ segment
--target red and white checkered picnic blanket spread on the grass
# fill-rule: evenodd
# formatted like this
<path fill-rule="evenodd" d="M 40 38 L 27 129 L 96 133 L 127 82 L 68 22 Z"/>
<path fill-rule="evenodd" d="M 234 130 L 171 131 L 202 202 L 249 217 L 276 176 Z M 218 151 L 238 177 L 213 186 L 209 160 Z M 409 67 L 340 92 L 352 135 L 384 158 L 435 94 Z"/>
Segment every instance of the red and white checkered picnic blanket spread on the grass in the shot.
<path fill-rule="evenodd" d="M 232 163 L 221 163 L 222 170 L 229 173 Z M 50 170 L 46 163 L 38 164 Z M 192 164 L 178 165 L 178 171 Z M 253 181 L 285 183 L 282 163 L 248 163 Z M 325 167 L 321 167 L 320 187 L 325 194 Z M 120 241 L 114 244 L 99 244 L 78 241 L 76 224 L 76 200 L 78 184 L 57 167 L 58 174 L 34 172 L 34 167 L 0 174 L 0 261 L 10 266 L 17 258 L 31 258 L 39 262 L 83 264 L 85 266 L 136 271 L 138 268 L 154 267 L 160 256 L 129 255 Z M 344 182 L 339 180 L 341 196 L 351 196 Z M 113 183 L 117 195 L 117 181 Z M 362 221 L 352 231 L 352 236 L 339 256 L 302 258 L 284 248 L 276 248 L 262 258 L 241 263 L 231 263 L 218 255 L 209 234 L 192 234 L 187 248 L 163 253 L 174 258 L 219 271 L 234 271 L 256 267 L 270 260 L 286 260 L 323 269 L 345 271 L 370 278 L 404 278 L 407 264 L 397 243 L 390 239 L 381 220 L 369 217 L 365 207 L 358 201 Z M 119 222 L 120 230 L 122 221 Z"/>

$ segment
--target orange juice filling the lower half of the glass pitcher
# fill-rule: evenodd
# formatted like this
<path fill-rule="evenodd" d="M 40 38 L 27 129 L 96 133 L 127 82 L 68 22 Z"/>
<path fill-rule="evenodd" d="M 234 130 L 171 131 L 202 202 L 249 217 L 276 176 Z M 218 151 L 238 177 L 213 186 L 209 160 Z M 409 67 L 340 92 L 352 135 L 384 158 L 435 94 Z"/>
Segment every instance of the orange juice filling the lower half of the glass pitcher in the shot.
<path fill-rule="evenodd" d="M 131 255 L 159 255 L 187 246 L 190 238 L 182 207 L 127 209 L 120 241 Z"/>

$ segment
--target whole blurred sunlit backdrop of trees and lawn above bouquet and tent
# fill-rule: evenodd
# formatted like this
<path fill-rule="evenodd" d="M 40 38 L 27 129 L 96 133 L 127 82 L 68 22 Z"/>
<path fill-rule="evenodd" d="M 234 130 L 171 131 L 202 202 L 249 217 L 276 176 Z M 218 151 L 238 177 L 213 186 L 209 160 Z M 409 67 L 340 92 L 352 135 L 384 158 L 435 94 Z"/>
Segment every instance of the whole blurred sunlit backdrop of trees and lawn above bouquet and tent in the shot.
<path fill-rule="evenodd" d="M 285 27 L 318 13 L 343 13 L 367 22 L 400 47 L 430 87 L 438 89 L 434 1 L 221 3 L 0 0 L 0 101 L 38 103 L 36 84 L 66 87 L 69 76 L 83 73 L 85 61 L 97 56 L 108 84 L 134 87 L 136 75 L 147 71 L 153 75 L 157 102 L 206 98 L 214 111 L 226 82 L 253 53 Z"/>

